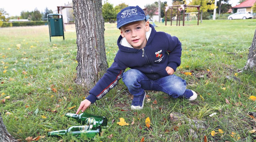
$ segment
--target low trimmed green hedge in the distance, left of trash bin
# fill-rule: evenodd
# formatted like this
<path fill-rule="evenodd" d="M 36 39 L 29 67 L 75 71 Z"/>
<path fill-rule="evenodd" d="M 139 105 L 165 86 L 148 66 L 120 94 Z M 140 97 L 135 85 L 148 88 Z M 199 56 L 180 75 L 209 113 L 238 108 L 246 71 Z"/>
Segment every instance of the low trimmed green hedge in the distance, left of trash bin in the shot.
<path fill-rule="evenodd" d="M 1 27 L 19 27 L 19 26 L 39 26 L 45 25 L 47 21 L 32 21 L 32 22 L 3 22 Z"/>

